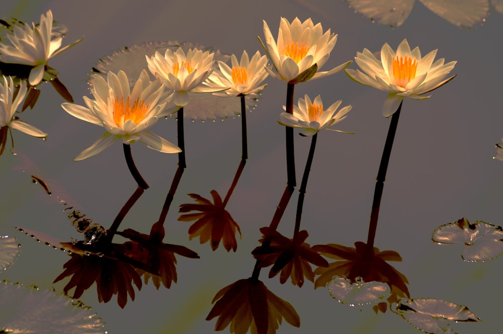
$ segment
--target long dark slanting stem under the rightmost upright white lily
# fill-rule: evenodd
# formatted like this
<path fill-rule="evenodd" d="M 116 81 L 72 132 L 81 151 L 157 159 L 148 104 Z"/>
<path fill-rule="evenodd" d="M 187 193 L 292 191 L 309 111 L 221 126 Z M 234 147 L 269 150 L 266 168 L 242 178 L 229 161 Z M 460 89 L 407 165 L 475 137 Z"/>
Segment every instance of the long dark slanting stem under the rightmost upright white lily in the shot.
<path fill-rule="evenodd" d="M 403 101 L 402 101 L 403 102 Z M 388 169 L 389 156 L 391 155 L 391 148 L 393 147 L 393 140 L 395 138 L 396 127 L 398 125 L 398 117 L 400 117 L 400 110 L 402 103 L 391 117 L 389 124 L 388 135 L 384 143 L 384 150 L 382 152 L 381 164 L 377 172 L 376 188 L 374 190 L 374 200 L 372 202 L 372 211 L 370 213 L 369 235 L 367 237 L 367 253 L 372 254 L 374 249 L 374 239 L 377 230 L 377 219 L 379 218 L 379 207 L 381 205 L 382 190 L 384 188 L 384 180 L 386 178 L 386 170 Z"/>

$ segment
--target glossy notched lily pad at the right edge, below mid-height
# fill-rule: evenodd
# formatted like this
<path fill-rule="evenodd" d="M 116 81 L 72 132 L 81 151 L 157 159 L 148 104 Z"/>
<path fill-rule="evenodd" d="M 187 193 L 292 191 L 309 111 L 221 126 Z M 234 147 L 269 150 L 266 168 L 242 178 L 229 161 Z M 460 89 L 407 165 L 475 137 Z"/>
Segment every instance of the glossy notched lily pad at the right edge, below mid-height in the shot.
<path fill-rule="evenodd" d="M 433 232 L 432 240 L 439 244 L 465 245 L 461 257 L 465 261 L 492 260 L 503 254 L 501 227 L 476 220 L 470 224 L 461 218 L 442 225 Z"/>

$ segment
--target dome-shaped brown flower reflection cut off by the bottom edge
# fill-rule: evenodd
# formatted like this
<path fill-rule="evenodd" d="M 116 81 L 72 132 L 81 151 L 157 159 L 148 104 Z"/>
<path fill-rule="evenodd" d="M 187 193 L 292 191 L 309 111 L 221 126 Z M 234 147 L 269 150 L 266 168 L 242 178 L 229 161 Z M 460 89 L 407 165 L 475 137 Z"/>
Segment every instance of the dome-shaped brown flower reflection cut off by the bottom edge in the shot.
<path fill-rule="evenodd" d="M 274 334 L 282 319 L 295 327 L 300 318 L 293 306 L 273 294 L 261 281 L 254 278 L 240 279 L 217 292 L 215 305 L 206 317 L 218 316 L 215 330 L 223 330 L 230 324 L 230 332 L 245 334 Z"/>

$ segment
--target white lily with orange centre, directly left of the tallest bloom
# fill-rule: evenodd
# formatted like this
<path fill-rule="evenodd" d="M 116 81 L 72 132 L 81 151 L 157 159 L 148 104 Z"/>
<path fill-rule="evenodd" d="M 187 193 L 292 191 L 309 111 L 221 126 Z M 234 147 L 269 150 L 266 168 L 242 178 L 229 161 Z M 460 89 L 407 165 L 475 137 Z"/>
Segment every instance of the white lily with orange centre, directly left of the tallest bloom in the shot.
<path fill-rule="evenodd" d="M 267 56 L 261 56 L 257 51 L 251 60 L 246 51 L 243 51 L 241 60 L 238 62 L 235 55 L 230 56 L 232 67 L 223 61 L 218 62 L 220 70 L 215 70 L 205 81 L 210 87 L 226 89 L 221 93 L 213 93 L 218 96 L 244 96 L 256 94 L 267 85 L 261 85 L 269 75 L 266 71 Z M 227 89 L 228 88 L 228 89 Z"/>

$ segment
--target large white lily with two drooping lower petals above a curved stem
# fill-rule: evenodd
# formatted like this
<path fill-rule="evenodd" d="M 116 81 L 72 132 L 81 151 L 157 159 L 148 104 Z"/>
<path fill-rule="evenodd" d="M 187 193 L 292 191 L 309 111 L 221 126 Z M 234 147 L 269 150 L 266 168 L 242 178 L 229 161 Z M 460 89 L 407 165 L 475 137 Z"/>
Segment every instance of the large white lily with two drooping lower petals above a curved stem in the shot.
<path fill-rule="evenodd" d="M 87 107 L 63 103 L 66 112 L 80 120 L 104 127 L 105 132 L 91 147 L 81 152 L 74 160 L 90 158 L 122 139 L 124 144 L 136 141 L 146 147 L 163 152 L 178 153 L 175 144 L 146 130 L 165 116 L 163 111 L 166 98 L 162 98 L 164 86 L 157 79 L 150 82 L 147 71 L 143 70 L 132 90 L 126 73 L 108 72 L 108 82 L 96 76 L 91 93 L 94 100 L 83 96 Z"/>

